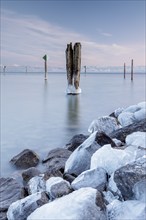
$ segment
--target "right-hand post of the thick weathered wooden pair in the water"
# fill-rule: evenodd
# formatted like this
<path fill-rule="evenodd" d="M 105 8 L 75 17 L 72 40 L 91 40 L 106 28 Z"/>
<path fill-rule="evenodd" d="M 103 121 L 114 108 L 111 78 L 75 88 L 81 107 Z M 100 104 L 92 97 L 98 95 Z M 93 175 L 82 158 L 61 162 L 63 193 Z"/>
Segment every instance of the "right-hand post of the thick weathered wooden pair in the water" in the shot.
<path fill-rule="evenodd" d="M 75 43 L 73 51 L 73 76 L 74 87 L 79 88 L 80 83 L 80 71 L 81 71 L 81 44 Z"/>

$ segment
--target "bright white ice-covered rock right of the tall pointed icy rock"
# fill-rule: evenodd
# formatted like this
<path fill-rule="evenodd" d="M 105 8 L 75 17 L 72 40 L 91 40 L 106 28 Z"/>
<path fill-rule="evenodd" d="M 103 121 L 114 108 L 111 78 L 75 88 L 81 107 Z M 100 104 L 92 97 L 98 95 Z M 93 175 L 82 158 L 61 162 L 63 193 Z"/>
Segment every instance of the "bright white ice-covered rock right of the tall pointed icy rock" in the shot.
<path fill-rule="evenodd" d="M 127 148 L 125 150 L 114 149 L 108 144 L 104 145 L 93 154 L 90 169 L 102 167 L 111 175 L 116 169 L 124 166 L 130 161 L 134 161 L 134 159 L 135 154 L 132 148 Z"/>

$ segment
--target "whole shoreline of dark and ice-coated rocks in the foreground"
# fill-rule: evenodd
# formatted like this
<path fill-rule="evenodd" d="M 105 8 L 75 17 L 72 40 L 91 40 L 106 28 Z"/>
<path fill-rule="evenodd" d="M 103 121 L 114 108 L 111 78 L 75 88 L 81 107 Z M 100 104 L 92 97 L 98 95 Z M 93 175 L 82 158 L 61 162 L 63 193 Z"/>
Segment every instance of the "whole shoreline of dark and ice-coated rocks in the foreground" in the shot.
<path fill-rule="evenodd" d="M 1 220 L 146 218 L 146 102 L 116 109 L 88 131 L 42 161 L 30 149 L 11 159 L 23 181 L 0 178 Z"/>

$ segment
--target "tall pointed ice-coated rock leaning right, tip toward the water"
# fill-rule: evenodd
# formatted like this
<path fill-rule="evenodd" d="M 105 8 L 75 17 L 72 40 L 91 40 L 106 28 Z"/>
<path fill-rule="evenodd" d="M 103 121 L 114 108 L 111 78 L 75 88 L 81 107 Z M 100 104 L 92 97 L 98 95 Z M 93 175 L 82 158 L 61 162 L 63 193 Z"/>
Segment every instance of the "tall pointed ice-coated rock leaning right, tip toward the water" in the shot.
<path fill-rule="evenodd" d="M 79 175 L 90 168 L 91 156 L 101 146 L 95 141 L 96 131 L 89 136 L 68 158 L 65 173 Z"/>

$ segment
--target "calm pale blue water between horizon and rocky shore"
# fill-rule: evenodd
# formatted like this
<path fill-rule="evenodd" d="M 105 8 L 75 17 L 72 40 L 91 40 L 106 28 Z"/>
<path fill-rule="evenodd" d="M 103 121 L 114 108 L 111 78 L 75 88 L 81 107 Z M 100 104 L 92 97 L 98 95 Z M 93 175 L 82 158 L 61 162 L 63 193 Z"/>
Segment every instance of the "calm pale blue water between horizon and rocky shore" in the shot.
<path fill-rule="evenodd" d="M 10 159 L 29 148 L 41 159 L 75 134 L 88 134 L 93 119 L 145 100 L 146 75 L 81 74 L 82 94 L 66 95 L 66 74 L 1 75 L 1 175 Z"/>

